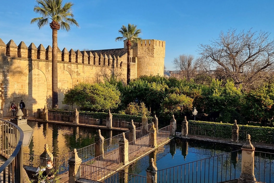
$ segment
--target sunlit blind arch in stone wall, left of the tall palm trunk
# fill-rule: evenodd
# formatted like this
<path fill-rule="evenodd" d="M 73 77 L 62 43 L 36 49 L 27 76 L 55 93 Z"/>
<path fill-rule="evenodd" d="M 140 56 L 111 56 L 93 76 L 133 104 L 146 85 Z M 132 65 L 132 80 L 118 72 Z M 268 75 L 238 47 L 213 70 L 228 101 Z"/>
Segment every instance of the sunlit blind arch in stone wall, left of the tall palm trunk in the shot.
<path fill-rule="evenodd" d="M 31 109 L 43 109 L 47 104 L 47 79 L 45 74 L 39 69 L 33 69 L 26 77 L 25 105 Z"/>

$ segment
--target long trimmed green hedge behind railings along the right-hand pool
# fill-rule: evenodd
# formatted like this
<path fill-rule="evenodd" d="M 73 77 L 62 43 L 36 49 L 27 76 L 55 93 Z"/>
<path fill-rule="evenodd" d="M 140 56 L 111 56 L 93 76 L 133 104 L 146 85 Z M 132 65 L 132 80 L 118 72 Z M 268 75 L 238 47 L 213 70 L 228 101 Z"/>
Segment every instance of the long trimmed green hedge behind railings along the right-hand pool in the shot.
<path fill-rule="evenodd" d="M 189 125 L 195 125 L 202 127 L 206 131 L 206 136 L 231 138 L 231 127 L 233 124 L 206 122 L 206 121 L 193 121 L 189 120 Z M 239 126 L 239 139 L 245 140 L 246 134 L 250 134 L 251 141 L 263 142 L 268 144 L 274 144 L 274 127 L 258 127 L 251 125 L 238 125 Z M 214 136 L 214 129 L 215 136 Z M 191 129 L 190 129 L 191 130 Z M 199 134 L 196 134 L 199 135 Z"/>

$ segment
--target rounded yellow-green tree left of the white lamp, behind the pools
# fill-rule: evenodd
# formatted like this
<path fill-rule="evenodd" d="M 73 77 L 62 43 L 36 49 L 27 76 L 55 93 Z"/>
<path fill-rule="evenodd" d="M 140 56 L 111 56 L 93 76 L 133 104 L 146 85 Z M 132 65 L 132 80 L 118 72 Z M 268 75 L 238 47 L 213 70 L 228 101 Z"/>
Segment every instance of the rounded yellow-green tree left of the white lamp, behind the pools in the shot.
<path fill-rule="evenodd" d="M 192 109 L 193 99 L 186 95 L 168 94 L 161 104 L 161 113 L 165 116 L 182 116 Z"/>

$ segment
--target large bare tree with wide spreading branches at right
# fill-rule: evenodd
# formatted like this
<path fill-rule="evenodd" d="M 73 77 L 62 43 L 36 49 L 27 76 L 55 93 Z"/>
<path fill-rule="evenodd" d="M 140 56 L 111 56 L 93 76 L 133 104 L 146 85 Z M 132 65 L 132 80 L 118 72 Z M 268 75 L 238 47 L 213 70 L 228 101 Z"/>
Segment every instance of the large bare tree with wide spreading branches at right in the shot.
<path fill-rule="evenodd" d="M 274 40 L 268 32 L 230 29 L 221 32 L 210 44 L 200 44 L 204 69 L 215 71 L 217 77 L 233 79 L 245 88 L 266 81 L 274 68 Z"/>

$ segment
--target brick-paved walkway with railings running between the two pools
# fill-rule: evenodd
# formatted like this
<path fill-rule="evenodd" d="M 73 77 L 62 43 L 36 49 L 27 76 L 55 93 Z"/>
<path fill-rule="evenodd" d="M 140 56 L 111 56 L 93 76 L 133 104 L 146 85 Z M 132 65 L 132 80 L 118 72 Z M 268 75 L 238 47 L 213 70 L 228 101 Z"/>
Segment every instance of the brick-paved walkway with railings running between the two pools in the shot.
<path fill-rule="evenodd" d="M 169 133 L 169 131 L 159 131 L 157 134 L 158 147 L 168 143 L 172 139 L 169 137 L 167 138 L 167 134 Z M 148 155 L 156 149 L 148 145 L 148 142 L 149 135 L 129 143 L 129 164 L 137 161 L 145 155 Z M 82 164 L 80 167 L 81 177 L 89 180 L 103 181 L 112 174 L 110 170 L 119 171 L 129 164 L 123 165 L 121 163 L 120 150 L 119 148 L 116 148 L 115 150 L 105 153 L 104 156 L 93 158 L 92 160 Z M 67 174 L 60 176 L 62 182 L 68 180 Z"/>

